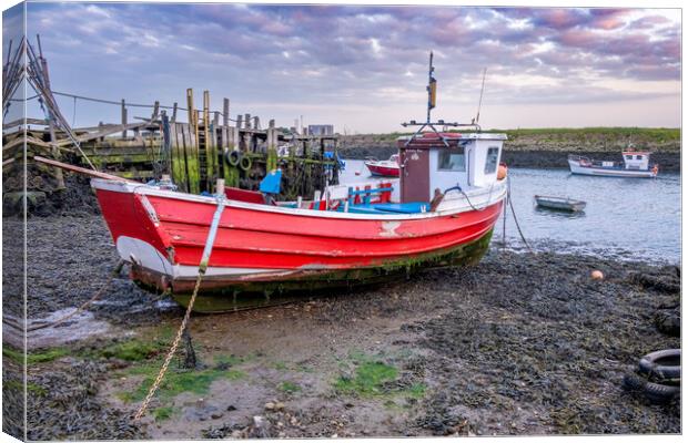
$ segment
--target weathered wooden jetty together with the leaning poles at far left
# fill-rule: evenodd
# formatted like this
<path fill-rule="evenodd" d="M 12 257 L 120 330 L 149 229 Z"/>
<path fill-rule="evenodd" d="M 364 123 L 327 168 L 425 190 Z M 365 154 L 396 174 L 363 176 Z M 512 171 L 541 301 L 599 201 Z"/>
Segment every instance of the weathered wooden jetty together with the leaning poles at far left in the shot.
<path fill-rule="evenodd" d="M 263 126 L 251 114 L 231 119 L 230 100 L 223 99 L 222 110 L 211 110 L 209 91 L 203 91 L 199 107 L 192 89 L 186 90 L 185 107 L 178 103 L 141 104 L 57 92 L 50 85 L 40 35 L 37 43 L 34 48 L 22 38 L 12 51 L 10 42 L 2 66 L 4 115 L 12 105 L 21 110 L 16 115 L 24 114 L 30 100 L 39 100 L 45 114 L 44 119 L 23 117 L 2 126 L 3 204 L 9 194 L 13 195 L 10 199 L 19 202 L 23 195 L 49 197 L 65 188 L 62 171 L 37 164 L 32 161 L 34 155 L 142 182 L 166 174 L 179 190 L 192 194 L 214 193 L 217 178 L 224 178 L 227 186 L 255 190 L 266 173 L 275 168 L 282 169 L 282 192 L 277 196 L 281 199 L 311 199 L 326 185 L 337 184 L 336 135 L 276 127 L 274 120 Z M 23 95 L 22 81 L 36 95 Z M 57 95 L 72 99 L 74 107 L 77 101 L 119 106 L 121 121 L 71 127 Z M 130 114 L 134 109 L 150 110 L 150 114 Z M 180 121 L 179 114 L 185 114 L 186 122 Z"/>

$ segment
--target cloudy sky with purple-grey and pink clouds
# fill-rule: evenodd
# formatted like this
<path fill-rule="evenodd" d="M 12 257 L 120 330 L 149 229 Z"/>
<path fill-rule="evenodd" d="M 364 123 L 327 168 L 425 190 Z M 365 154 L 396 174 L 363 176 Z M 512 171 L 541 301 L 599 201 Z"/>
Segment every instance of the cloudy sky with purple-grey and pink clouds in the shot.
<path fill-rule="evenodd" d="M 475 115 L 486 68 L 484 127 L 680 125 L 678 9 L 43 2 L 27 25 L 54 90 L 109 100 L 183 103 L 194 87 L 200 104 L 206 89 L 263 122 L 397 131 L 424 119 L 433 50 L 438 119 Z M 119 119 L 61 107 L 78 125 Z"/>

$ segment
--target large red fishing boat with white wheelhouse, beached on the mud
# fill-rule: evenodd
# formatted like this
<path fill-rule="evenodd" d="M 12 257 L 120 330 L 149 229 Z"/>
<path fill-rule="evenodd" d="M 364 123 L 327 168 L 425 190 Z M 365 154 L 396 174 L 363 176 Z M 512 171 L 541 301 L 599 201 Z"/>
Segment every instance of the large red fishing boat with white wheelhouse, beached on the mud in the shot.
<path fill-rule="evenodd" d="M 211 244 L 194 310 L 227 310 L 240 293 L 351 287 L 477 262 L 506 196 L 506 179 L 497 177 L 506 135 L 479 127 L 441 133 L 434 124 L 474 126 L 431 123 L 428 106 L 427 122 L 397 140 L 398 189 L 396 183 L 338 185 L 313 200 L 274 203 L 234 188 L 201 196 L 115 179 L 91 183 L 135 281 L 186 305 Z"/>

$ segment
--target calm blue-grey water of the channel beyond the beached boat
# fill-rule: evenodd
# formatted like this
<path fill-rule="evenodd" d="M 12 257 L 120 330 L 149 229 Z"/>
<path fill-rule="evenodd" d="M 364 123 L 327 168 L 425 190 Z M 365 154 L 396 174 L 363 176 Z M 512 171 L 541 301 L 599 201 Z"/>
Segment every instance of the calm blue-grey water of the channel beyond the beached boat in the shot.
<path fill-rule="evenodd" d="M 361 172 L 356 176 L 355 173 Z M 342 182 L 368 178 L 362 161 L 346 161 Z M 609 258 L 680 261 L 680 175 L 656 179 L 571 175 L 563 169 L 509 168 L 512 200 L 520 228 L 537 249 L 586 253 Z M 533 196 L 555 195 L 587 202 L 585 212 L 569 215 L 536 208 Z M 494 240 L 502 240 L 503 222 Z M 510 216 L 507 244 L 523 246 Z"/>

